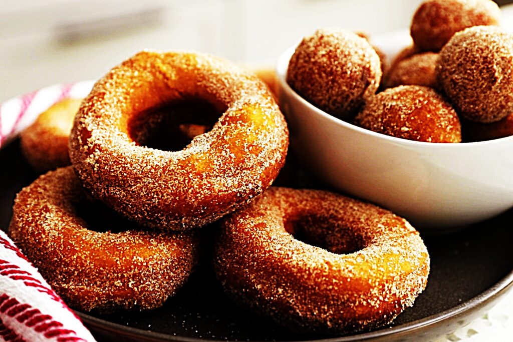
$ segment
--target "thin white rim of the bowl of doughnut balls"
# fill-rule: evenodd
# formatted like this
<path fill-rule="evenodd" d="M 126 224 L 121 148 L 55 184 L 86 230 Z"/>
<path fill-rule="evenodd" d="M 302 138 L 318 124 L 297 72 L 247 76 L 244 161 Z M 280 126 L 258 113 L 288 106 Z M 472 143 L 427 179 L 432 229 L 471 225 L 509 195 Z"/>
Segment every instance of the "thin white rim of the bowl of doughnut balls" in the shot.
<path fill-rule="evenodd" d="M 298 45 L 295 44 L 289 48 L 287 48 L 285 51 L 281 53 L 281 55 L 278 57 L 277 63 L 275 64 L 275 71 L 278 78 L 278 83 L 280 87 L 285 91 L 286 95 L 292 96 L 292 98 L 296 101 L 301 103 L 303 106 L 308 108 L 311 112 L 315 113 L 318 116 L 321 116 L 325 120 L 328 120 L 329 122 L 336 124 L 338 126 L 344 127 L 346 129 L 358 132 L 363 135 L 367 135 L 369 137 L 377 138 L 377 139 L 383 139 L 386 140 L 389 143 L 392 144 L 401 144 L 405 146 L 410 146 L 412 148 L 425 148 L 425 149 L 464 149 L 469 146 L 479 146 L 479 147 L 489 147 L 493 148 L 497 145 L 503 145 L 511 143 L 513 144 L 513 135 L 505 136 L 502 138 L 496 138 L 496 139 L 490 139 L 490 140 L 482 140 L 479 142 L 463 142 L 463 143 L 429 143 L 429 142 L 418 142 L 416 140 L 408 140 L 403 138 L 398 138 L 391 135 L 386 135 L 383 133 L 373 132 L 371 130 L 353 125 L 351 123 L 345 122 L 344 120 L 341 120 L 331 114 L 328 114 L 327 112 L 323 111 L 320 108 L 315 107 L 310 102 L 308 102 L 306 99 L 301 97 L 297 92 L 295 92 L 292 87 L 289 86 L 289 84 L 286 82 L 286 76 L 287 76 L 287 69 L 288 69 L 288 63 L 290 61 L 290 58 L 292 57 L 292 54 L 295 51 L 295 48 Z M 286 116 L 286 113 L 285 113 Z"/>

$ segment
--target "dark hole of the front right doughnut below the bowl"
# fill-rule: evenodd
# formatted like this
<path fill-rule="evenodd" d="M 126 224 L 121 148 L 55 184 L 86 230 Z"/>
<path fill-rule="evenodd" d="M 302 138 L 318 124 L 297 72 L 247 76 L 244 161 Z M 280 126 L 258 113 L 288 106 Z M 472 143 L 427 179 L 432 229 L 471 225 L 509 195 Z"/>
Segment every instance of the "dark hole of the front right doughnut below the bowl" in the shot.
<path fill-rule="evenodd" d="M 356 230 L 316 214 L 289 218 L 285 230 L 305 244 L 336 254 L 350 254 L 365 248 L 363 236 Z"/>

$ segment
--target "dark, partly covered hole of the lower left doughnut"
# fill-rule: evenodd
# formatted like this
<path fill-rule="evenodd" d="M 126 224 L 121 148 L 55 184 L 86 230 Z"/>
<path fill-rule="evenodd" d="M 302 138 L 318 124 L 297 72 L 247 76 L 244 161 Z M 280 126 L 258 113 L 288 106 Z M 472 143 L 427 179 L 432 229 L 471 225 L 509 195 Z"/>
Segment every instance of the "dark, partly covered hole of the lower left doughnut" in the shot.
<path fill-rule="evenodd" d="M 105 233 L 121 233 L 141 230 L 141 226 L 121 216 L 100 201 L 83 199 L 76 205 L 76 215 L 82 218 L 89 230 Z"/>

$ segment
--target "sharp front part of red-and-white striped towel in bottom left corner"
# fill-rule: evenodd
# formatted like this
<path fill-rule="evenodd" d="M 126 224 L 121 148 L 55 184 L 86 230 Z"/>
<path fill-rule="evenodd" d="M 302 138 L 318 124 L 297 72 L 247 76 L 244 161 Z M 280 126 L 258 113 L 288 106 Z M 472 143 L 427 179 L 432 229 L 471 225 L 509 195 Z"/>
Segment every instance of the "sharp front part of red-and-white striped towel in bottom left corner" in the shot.
<path fill-rule="evenodd" d="M 5 341 L 94 341 L 27 258 L 0 231 L 0 337 Z"/>

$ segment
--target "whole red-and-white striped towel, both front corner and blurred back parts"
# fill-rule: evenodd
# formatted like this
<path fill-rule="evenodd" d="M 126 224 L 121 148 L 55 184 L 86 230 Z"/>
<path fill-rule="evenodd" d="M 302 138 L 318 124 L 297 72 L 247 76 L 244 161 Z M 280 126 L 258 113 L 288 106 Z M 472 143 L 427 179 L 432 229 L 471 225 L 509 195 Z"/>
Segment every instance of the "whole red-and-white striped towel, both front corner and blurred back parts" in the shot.
<path fill-rule="evenodd" d="M 61 99 L 86 96 L 93 82 L 56 85 L 0 105 L 0 148 Z M 0 340 L 85 342 L 94 337 L 0 231 Z"/>

